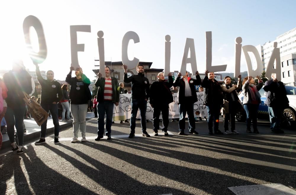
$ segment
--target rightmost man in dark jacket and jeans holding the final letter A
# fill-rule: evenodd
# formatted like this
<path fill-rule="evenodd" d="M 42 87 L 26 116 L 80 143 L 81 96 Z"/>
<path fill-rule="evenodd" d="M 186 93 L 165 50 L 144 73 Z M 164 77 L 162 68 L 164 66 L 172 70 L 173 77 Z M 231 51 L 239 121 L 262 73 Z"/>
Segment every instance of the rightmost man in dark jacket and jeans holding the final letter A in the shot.
<path fill-rule="evenodd" d="M 265 82 L 263 89 L 267 92 L 265 105 L 268 106 L 271 132 L 284 133 L 280 126 L 281 116 L 284 109 L 289 106 L 284 83 L 278 81 L 272 74 L 271 79 Z"/>

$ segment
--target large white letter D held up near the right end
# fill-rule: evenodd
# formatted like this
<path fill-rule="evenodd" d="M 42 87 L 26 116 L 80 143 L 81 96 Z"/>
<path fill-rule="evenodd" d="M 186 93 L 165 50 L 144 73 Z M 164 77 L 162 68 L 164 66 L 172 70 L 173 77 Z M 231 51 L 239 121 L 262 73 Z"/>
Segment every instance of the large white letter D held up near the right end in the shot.
<path fill-rule="evenodd" d="M 255 77 L 257 75 L 261 75 L 263 71 L 262 59 L 256 47 L 252 45 L 245 45 L 242 47 L 242 50 L 244 51 L 244 57 L 246 58 L 247 62 L 248 76 Z M 253 70 L 251 58 L 248 52 L 252 52 L 256 58 L 257 67 L 255 70 Z"/>

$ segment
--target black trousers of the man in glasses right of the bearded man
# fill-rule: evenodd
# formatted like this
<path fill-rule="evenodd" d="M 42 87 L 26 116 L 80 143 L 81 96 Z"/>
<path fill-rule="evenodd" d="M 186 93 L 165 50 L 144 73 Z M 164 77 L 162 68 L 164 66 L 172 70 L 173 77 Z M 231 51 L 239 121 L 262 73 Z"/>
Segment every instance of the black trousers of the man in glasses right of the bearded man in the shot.
<path fill-rule="evenodd" d="M 157 132 L 159 130 L 159 116 L 160 112 L 163 116 L 163 128 L 162 130 L 166 132 L 168 130 L 168 104 L 154 106 L 153 109 L 153 131 Z"/>

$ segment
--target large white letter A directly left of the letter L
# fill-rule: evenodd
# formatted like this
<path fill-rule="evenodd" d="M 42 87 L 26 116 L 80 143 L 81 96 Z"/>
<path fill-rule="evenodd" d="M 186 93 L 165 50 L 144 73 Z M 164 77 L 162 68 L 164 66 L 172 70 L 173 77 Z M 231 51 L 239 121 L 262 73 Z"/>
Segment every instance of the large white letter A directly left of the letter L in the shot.
<path fill-rule="evenodd" d="M 189 49 L 190 49 L 190 58 L 188 58 Z M 197 71 L 197 65 L 196 65 L 196 56 L 195 56 L 195 48 L 194 48 L 194 39 L 193 38 L 186 38 L 184 54 L 183 54 L 181 70 L 180 70 L 180 73 L 182 75 L 186 74 L 186 65 L 189 63 L 191 64 L 192 74 L 195 74 L 195 72 Z"/>

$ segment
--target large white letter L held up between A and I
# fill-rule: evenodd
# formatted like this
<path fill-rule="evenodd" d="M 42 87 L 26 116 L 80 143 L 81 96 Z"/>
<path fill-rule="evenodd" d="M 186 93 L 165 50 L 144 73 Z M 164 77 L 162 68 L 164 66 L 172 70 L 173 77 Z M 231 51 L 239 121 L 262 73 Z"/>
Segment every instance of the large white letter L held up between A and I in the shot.
<path fill-rule="evenodd" d="M 205 64 L 206 70 L 210 72 L 225 71 L 227 65 L 212 66 L 212 31 L 205 32 Z"/>

